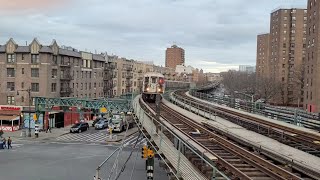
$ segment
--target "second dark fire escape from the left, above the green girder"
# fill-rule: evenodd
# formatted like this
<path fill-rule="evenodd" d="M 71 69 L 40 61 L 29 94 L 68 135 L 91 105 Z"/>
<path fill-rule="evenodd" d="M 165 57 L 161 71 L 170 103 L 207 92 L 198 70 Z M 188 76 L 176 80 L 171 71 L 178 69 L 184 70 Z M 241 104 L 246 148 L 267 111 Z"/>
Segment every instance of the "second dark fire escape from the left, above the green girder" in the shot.
<path fill-rule="evenodd" d="M 111 97 L 113 92 L 113 78 L 115 65 L 113 63 L 105 64 L 103 73 L 103 93 L 105 97 Z"/>

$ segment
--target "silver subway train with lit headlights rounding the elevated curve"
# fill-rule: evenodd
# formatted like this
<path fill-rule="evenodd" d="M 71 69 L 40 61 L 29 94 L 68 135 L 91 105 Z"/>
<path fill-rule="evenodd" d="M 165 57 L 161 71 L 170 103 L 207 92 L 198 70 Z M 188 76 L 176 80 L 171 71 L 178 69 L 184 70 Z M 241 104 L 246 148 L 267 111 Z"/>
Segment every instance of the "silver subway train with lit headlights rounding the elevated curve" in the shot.
<path fill-rule="evenodd" d="M 166 88 L 189 88 L 189 82 L 167 81 L 163 74 L 157 72 L 147 72 L 143 76 L 142 98 L 145 101 L 155 102 L 157 94 L 163 94 Z"/>

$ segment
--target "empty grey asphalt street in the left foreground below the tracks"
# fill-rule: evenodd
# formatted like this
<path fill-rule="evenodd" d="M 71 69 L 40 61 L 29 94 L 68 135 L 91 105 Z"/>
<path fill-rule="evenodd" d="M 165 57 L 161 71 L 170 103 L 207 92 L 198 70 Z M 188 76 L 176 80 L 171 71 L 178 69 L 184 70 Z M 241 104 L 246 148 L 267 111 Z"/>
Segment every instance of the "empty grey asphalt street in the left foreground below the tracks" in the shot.
<path fill-rule="evenodd" d="M 0 180 L 92 180 L 96 167 L 115 149 L 113 146 L 66 143 L 14 144 L 12 150 L 0 149 Z M 115 156 L 101 168 L 102 179 L 107 179 L 111 171 L 115 177 L 130 150 L 125 148 L 119 155 L 117 170 L 112 170 Z M 140 149 L 137 153 L 133 153 L 119 180 L 130 179 L 134 162 L 132 180 L 146 179 L 145 160 L 141 159 Z M 168 179 L 158 164 L 156 160 L 154 179 Z"/>

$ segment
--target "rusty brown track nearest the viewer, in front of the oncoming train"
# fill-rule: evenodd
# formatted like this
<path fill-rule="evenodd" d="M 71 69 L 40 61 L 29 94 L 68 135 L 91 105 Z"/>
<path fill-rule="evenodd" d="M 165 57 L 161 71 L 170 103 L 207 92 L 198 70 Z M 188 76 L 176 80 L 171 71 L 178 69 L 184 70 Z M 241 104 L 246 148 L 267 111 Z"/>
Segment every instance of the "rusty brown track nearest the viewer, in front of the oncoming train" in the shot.
<path fill-rule="evenodd" d="M 155 104 L 140 100 L 140 105 L 144 106 L 146 111 L 148 107 L 156 111 Z M 297 171 L 290 172 L 284 164 L 257 155 L 253 149 L 212 131 L 212 129 L 195 122 L 163 103 L 161 104 L 160 117 L 195 141 L 207 153 L 217 157 L 213 163 L 231 179 L 315 179 Z M 192 153 L 186 152 L 186 156 L 207 177 L 212 175 L 210 174 L 212 170 L 203 166 L 201 160 L 194 157 Z"/>

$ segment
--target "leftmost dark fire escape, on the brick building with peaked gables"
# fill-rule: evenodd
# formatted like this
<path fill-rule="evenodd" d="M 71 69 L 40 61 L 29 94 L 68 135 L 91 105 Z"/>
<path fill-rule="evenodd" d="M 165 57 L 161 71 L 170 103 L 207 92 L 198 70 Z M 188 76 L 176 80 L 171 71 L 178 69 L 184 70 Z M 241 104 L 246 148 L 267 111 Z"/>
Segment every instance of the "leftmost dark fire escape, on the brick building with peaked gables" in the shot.
<path fill-rule="evenodd" d="M 60 64 L 60 97 L 70 97 L 72 89 L 70 87 L 70 82 L 73 79 L 71 75 L 71 65 L 70 62 L 65 62 L 63 59 Z"/>

